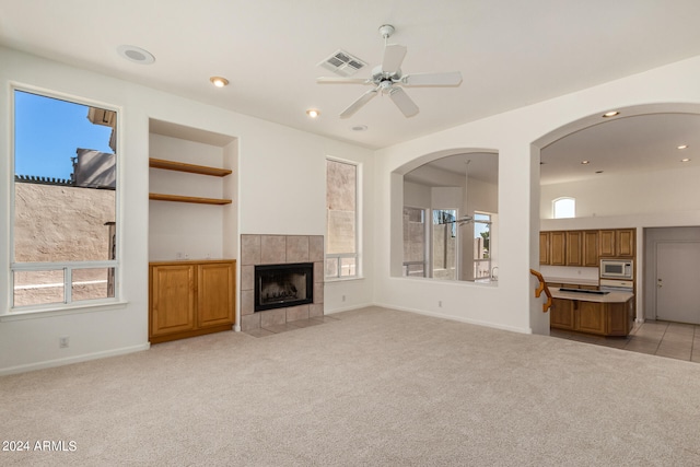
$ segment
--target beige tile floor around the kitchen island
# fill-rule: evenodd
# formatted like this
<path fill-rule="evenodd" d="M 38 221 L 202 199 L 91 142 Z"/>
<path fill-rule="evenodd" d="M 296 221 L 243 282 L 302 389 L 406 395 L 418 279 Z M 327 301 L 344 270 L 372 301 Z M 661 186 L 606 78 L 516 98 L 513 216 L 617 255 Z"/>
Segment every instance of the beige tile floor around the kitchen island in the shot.
<path fill-rule="evenodd" d="M 550 335 L 597 346 L 700 363 L 700 326 L 696 325 L 644 322 L 635 324 L 627 337 L 597 337 L 560 329 L 552 329 Z"/>

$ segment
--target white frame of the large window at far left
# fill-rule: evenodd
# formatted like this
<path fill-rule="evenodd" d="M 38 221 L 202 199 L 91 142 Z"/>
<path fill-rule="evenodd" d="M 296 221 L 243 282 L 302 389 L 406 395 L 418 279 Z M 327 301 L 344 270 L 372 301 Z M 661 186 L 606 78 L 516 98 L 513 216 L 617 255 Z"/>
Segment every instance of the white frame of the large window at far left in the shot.
<path fill-rule="evenodd" d="M 15 180 L 15 129 L 16 129 L 16 102 L 15 102 L 15 93 L 16 92 L 25 92 L 34 95 L 38 95 L 42 97 L 54 98 L 59 101 L 69 102 L 72 104 L 78 104 L 88 107 L 97 107 L 106 110 L 112 110 L 116 113 L 116 127 L 115 127 L 115 142 L 117 150 L 115 151 L 116 160 L 116 180 L 115 180 L 115 259 L 106 259 L 106 260 L 70 260 L 70 261 L 40 261 L 40 262 L 16 262 L 15 261 L 15 196 L 16 196 L 16 180 Z M 33 85 L 22 84 L 22 83 L 10 83 L 10 96 L 9 96 L 9 173 L 10 177 L 9 188 L 10 196 L 8 199 L 9 206 L 8 210 L 8 241 L 9 241 L 9 257 L 8 257 L 8 297 L 7 303 L 3 306 L 4 310 L 0 310 L 0 317 L 8 318 L 11 316 L 32 316 L 35 314 L 46 314 L 47 312 L 71 312 L 79 311 L 80 313 L 84 312 L 85 308 L 89 307 L 97 307 L 103 308 L 104 306 L 113 306 L 115 304 L 122 304 L 124 301 L 121 299 L 121 245 L 120 240 L 124 238 L 121 224 L 122 224 L 122 210 L 121 210 L 121 197 L 124 196 L 124 168 L 122 168 L 122 156 L 121 149 L 124 148 L 124 121 L 122 121 L 122 113 L 124 109 L 121 106 L 107 104 L 101 101 L 96 101 L 93 98 L 86 98 L 83 96 L 77 96 L 73 94 L 61 93 L 52 90 L 47 90 L 43 87 L 37 87 Z M 104 299 L 91 299 L 91 300 L 72 300 L 72 271 L 80 269 L 102 269 L 102 268 L 113 268 L 114 269 L 114 296 L 108 296 Z M 26 271 L 49 271 L 49 270 L 63 270 L 63 301 L 47 303 L 47 304 L 32 304 L 32 305 L 19 305 L 14 304 L 14 273 L 15 272 L 26 272 Z M 62 314 L 62 313 L 61 313 Z"/>

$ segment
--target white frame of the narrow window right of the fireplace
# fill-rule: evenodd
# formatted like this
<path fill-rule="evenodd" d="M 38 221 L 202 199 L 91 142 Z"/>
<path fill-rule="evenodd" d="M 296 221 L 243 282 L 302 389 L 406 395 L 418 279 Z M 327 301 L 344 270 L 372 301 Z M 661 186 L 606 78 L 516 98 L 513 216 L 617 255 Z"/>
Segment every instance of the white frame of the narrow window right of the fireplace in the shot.
<path fill-rule="evenodd" d="M 362 163 L 350 161 L 347 159 L 339 159 L 332 156 L 326 156 L 325 166 L 326 174 L 328 173 L 328 163 L 339 163 L 352 165 L 355 171 L 354 178 L 354 253 L 328 253 L 328 238 L 326 238 L 324 247 L 324 280 L 328 282 L 332 281 L 347 281 L 362 279 Z M 326 177 L 326 195 L 328 194 L 328 178 Z M 326 201 L 326 236 L 328 236 L 328 205 Z M 342 276 L 342 259 L 354 258 L 354 275 Z M 328 259 L 337 260 L 337 270 L 334 276 L 329 276 Z"/>

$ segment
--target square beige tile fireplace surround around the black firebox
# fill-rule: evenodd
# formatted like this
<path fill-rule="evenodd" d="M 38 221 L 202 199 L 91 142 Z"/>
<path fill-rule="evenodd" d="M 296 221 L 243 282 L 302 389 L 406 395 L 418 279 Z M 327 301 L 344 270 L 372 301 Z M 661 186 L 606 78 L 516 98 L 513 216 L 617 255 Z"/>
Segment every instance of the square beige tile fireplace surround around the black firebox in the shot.
<path fill-rule="evenodd" d="M 301 305 L 260 306 L 256 301 L 256 289 L 260 294 L 260 270 L 276 270 L 296 277 L 305 266 L 313 267 L 313 284 L 308 292 L 313 301 Z M 302 268 L 302 269 L 300 269 Z M 269 277 L 269 276 L 268 276 Z M 273 276 L 277 277 L 277 276 Z M 293 281 L 292 281 L 293 282 Z M 288 295 L 290 284 L 277 280 L 272 283 L 273 294 Z M 293 288 L 300 288 L 294 284 Z M 269 295 L 269 289 L 264 292 Z M 308 300 L 306 300 L 307 302 Z M 256 306 L 257 304 L 257 306 Z M 261 311 L 257 311 L 261 310 Z M 324 314 L 324 237 L 323 235 L 241 235 L 241 330 L 284 325 L 288 322 L 308 319 Z"/>

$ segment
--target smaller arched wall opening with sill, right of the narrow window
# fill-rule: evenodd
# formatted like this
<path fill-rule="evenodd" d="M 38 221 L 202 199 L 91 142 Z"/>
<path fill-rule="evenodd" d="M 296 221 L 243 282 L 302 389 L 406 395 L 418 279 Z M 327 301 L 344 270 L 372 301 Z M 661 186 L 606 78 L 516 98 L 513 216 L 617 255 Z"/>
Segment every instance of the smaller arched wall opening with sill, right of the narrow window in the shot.
<path fill-rule="evenodd" d="M 425 154 L 393 174 L 392 276 L 495 283 L 498 153 Z M 400 238 L 399 238 L 400 236 Z"/>

